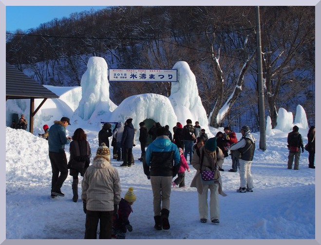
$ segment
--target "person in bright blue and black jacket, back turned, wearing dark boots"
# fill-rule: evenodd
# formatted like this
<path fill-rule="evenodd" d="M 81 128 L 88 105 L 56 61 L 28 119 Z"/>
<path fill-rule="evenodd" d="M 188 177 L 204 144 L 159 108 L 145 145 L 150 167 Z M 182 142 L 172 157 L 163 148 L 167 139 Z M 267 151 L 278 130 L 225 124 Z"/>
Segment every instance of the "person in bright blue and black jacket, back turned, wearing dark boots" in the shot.
<path fill-rule="evenodd" d="M 170 141 L 167 134 L 165 127 L 157 129 L 157 137 L 147 147 L 143 159 L 144 174 L 151 179 L 156 230 L 170 228 L 171 182 L 178 173 L 181 159 L 177 145 Z"/>

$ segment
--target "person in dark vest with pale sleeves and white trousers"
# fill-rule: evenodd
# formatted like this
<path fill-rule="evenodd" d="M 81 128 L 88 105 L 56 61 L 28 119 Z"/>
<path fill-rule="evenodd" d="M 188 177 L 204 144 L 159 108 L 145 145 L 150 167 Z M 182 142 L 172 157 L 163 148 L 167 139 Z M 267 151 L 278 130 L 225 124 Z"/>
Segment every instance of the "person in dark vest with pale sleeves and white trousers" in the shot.
<path fill-rule="evenodd" d="M 253 177 L 251 175 L 251 164 L 255 150 L 255 138 L 250 132 L 248 126 L 241 128 L 242 138 L 228 149 L 230 151 L 238 150 L 242 156 L 239 158 L 240 188 L 236 192 L 253 192 Z M 233 154 L 233 152 L 232 152 Z"/>

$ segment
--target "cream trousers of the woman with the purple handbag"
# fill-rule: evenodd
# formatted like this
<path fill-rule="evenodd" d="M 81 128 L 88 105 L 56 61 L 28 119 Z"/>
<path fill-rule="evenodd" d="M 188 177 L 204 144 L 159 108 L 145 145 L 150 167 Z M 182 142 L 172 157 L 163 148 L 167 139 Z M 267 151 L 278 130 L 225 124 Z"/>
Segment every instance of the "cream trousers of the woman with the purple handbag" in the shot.
<path fill-rule="evenodd" d="M 219 183 L 203 185 L 202 194 L 198 193 L 198 211 L 200 219 L 208 218 L 208 189 L 209 195 L 209 216 L 210 220 L 220 219 L 220 203 L 218 199 Z"/>

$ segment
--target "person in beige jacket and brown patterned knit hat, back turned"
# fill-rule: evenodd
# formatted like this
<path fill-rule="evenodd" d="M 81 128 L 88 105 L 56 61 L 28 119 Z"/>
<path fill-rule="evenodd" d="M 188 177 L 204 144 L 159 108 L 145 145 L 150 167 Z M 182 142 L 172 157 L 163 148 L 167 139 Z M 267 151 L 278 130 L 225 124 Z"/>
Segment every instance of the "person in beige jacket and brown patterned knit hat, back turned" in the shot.
<path fill-rule="evenodd" d="M 110 150 L 105 143 L 98 147 L 93 165 L 86 170 L 81 187 L 86 213 L 85 239 L 96 239 L 99 221 L 99 239 L 111 239 L 113 214 L 118 210 L 121 188 L 118 171 L 110 164 Z"/>

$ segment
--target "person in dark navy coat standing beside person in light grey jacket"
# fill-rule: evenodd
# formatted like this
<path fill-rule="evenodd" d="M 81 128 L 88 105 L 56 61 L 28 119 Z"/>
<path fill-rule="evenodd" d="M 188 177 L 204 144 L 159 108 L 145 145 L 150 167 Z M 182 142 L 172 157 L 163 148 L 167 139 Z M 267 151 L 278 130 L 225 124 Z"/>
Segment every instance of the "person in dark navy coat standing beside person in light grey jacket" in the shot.
<path fill-rule="evenodd" d="M 135 136 L 135 129 L 132 125 L 132 118 L 125 122 L 124 132 L 121 138 L 121 147 L 123 148 L 123 164 L 121 167 L 132 167 L 132 147 Z"/>

